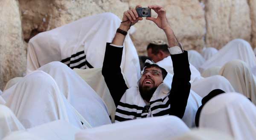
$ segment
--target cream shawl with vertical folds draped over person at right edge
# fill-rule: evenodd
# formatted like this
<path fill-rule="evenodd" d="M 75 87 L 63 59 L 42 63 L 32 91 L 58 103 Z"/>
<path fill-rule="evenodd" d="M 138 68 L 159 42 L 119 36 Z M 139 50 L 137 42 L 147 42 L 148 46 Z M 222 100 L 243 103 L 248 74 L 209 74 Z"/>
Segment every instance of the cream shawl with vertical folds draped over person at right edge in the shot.
<path fill-rule="evenodd" d="M 250 98 L 256 104 L 256 81 L 247 64 L 241 60 L 233 60 L 225 64 L 219 73 L 227 78 L 236 92 Z"/>

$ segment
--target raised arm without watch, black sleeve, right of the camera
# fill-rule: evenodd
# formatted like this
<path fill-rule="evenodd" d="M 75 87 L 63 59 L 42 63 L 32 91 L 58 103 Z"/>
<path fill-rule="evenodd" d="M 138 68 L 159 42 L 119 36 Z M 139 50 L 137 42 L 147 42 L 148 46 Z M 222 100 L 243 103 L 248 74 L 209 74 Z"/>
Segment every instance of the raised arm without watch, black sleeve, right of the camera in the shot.
<path fill-rule="evenodd" d="M 156 25 L 163 29 L 169 43 L 169 51 L 172 57 L 174 76 L 172 79 L 172 89 L 170 91 L 170 110 L 169 115 L 175 115 L 182 118 L 186 109 L 187 100 L 190 92 L 190 69 L 188 53 L 184 51 L 182 46 L 178 43 L 171 26 L 166 18 L 166 10 L 161 6 L 148 6 L 153 9 L 158 17 L 147 17 Z"/>

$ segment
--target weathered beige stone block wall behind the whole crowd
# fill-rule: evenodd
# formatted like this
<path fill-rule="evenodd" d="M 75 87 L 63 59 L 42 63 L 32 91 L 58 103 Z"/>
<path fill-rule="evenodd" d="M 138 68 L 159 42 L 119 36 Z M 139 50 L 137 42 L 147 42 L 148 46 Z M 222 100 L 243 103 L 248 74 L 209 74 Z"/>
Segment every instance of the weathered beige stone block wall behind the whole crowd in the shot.
<path fill-rule="evenodd" d="M 78 20 L 112 12 L 122 18 L 137 0 L 0 0 L 0 89 L 6 81 L 22 76 L 26 68 L 26 43 L 36 34 Z M 204 46 L 221 48 L 242 38 L 256 45 L 256 0 L 140 0 L 146 7 L 158 4 L 183 47 L 201 51 Z M 20 11 L 20 12 L 19 12 Z M 153 12 L 153 16 L 156 14 Z M 153 22 L 140 21 L 131 35 L 139 54 L 152 39 L 166 40 Z"/>

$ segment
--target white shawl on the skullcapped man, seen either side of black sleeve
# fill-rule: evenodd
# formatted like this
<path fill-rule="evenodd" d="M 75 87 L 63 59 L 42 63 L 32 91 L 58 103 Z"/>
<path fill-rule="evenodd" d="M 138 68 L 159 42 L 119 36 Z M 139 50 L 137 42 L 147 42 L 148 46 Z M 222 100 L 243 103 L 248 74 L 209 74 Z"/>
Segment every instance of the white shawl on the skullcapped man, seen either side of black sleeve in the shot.
<path fill-rule="evenodd" d="M 174 74 L 171 56 L 164 58 L 163 60 L 157 62 L 156 64 L 158 64 L 160 67 L 163 67 L 168 73 L 171 73 L 172 75 Z M 202 78 L 199 71 L 192 64 L 189 64 L 189 68 L 191 71 L 191 78 L 189 81 L 190 83 Z"/>

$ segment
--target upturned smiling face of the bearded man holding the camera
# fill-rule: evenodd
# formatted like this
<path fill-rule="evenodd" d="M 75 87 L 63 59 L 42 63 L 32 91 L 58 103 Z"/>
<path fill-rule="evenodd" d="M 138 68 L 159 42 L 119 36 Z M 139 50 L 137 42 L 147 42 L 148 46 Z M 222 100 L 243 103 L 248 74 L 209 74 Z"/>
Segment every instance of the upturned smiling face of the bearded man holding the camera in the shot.
<path fill-rule="evenodd" d="M 163 82 L 162 72 L 157 67 L 149 67 L 144 70 L 141 79 L 140 86 L 142 88 L 151 89 L 158 87 Z"/>

